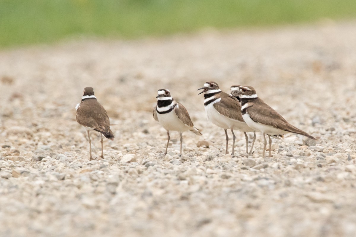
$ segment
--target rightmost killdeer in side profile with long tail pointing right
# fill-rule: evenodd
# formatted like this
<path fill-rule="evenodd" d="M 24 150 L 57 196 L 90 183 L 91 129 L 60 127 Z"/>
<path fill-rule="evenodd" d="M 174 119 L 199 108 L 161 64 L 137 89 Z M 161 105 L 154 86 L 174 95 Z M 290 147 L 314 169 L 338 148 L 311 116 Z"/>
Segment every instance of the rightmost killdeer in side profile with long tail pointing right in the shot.
<path fill-rule="evenodd" d="M 266 134 L 269 138 L 269 157 L 271 157 L 271 136 L 281 139 L 284 134 L 296 133 L 310 139 L 318 140 L 312 135 L 289 124 L 277 111 L 269 107 L 257 96 L 253 87 L 238 85 L 233 87 L 236 88 L 234 88 L 232 95 L 240 98 L 242 118 L 244 118 L 247 125 L 252 129 L 263 133 L 263 138 L 265 139 L 263 156 L 265 156 L 267 146 Z"/>

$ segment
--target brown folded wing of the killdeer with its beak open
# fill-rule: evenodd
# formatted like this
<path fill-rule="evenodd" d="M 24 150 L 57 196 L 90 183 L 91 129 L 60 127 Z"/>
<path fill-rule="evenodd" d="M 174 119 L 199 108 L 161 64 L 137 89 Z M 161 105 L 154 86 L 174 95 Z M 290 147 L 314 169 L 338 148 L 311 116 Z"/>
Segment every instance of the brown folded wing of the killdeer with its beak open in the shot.
<path fill-rule="evenodd" d="M 220 97 L 220 102 L 213 104 L 214 108 L 228 118 L 243 122 L 240 102 L 225 92 L 221 92 Z"/>

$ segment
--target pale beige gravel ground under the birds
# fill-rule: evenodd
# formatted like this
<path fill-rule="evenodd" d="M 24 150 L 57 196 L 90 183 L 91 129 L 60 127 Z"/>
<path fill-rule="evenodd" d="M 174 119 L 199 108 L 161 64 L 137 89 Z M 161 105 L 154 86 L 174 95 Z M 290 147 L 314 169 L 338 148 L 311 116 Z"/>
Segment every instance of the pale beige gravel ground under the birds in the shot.
<path fill-rule="evenodd" d="M 355 236 L 355 42 L 355 22 L 325 22 L 2 50 L 0 236 Z M 247 156 L 237 131 L 224 155 L 197 92 L 210 80 L 255 87 L 319 141 L 289 134 L 263 158 L 261 134 Z M 87 86 L 117 124 L 103 160 L 75 120 Z M 182 157 L 177 132 L 162 153 L 161 88 L 202 129 Z"/>

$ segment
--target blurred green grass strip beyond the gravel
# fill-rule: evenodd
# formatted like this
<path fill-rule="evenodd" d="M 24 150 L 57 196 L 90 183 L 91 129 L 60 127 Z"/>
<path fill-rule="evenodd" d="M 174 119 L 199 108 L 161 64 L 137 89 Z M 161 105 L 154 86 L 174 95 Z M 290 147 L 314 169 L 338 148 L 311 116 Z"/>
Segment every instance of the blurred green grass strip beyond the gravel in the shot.
<path fill-rule="evenodd" d="M 355 16 L 356 0 L 0 0 L 0 48 Z"/>

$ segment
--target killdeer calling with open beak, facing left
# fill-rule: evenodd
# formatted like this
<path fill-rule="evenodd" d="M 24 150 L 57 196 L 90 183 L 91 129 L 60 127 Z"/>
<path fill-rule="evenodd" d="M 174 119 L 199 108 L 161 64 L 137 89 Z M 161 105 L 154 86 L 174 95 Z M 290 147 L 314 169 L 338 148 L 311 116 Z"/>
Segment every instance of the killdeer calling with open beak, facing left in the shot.
<path fill-rule="evenodd" d="M 243 131 L 246 139 L 246 153 L 248 153 L 248 137 L 246 132 L 253 131 L 242 119 L 241 106 L 239 101 L 229 94 L 220 90 L 218 84 L 214 81 L 205 82 L 203 89 L 198 95 L 204 93 L 204 108 L 208 120 L 213 124 L 223 128 L 226 136 L 226 154 L 227 145 L 229 144 L 229 136 L 227 136 L 227 129 L 232 133 L 232 152 L 234 155 L 235 149 L 235 134 L 234 129 Z"/>

